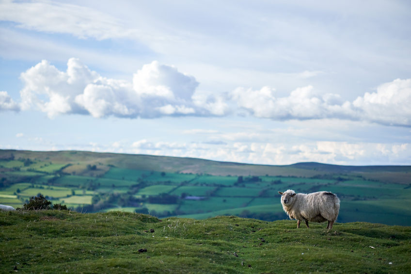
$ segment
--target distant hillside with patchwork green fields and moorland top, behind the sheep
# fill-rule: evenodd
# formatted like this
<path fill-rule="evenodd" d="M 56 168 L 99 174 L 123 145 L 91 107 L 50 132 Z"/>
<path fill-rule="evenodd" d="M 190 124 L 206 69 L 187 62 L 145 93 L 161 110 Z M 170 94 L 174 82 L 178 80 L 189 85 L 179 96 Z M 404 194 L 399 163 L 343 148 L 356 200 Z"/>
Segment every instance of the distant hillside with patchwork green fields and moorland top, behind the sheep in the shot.
<path fill-rule="evenodd" d="M 0 204 L 39 193 L 80 212 L 285 219 L 278 191 L 327 190 L 338 222 L 411 226 L 411 166 L 253 165 L 85 151 L 0 150 Z"/>

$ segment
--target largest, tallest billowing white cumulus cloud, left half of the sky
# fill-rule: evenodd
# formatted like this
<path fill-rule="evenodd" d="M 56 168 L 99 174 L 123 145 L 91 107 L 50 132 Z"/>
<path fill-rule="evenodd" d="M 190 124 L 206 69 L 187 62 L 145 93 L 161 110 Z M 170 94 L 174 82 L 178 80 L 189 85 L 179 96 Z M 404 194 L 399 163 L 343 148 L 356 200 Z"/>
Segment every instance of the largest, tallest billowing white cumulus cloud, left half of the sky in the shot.
<path fill-rule="evenodd" d="M 102 77 L 79 59 L 71 58 L 60 71 L 43 60 L 21 74 L 22 107 L 52 118 L 64 113 L 154 118 L 165 115 L 223 115 L 193 100 L 198 82 L 174 66 L 157 61 L 143 65 L 133 82 Z"/>

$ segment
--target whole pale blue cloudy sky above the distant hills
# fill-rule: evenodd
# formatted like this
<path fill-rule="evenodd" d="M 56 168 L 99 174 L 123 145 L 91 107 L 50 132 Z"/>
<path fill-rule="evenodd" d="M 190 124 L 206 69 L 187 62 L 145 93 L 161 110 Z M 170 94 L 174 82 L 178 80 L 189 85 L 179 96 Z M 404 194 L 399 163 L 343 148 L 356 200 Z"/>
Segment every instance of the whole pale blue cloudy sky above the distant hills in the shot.
<path fill-rule="evenodd" d="M 0 0 L 0 149 L 411 164 L 406 0 Z"/>

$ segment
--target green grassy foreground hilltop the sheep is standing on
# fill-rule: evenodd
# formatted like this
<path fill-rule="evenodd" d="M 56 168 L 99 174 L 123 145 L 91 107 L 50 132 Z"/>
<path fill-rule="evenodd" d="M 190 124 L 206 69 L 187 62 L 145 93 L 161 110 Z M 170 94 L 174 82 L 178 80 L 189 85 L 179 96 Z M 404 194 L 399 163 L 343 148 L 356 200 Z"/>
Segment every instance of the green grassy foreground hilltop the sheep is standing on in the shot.
<path fill-rule="evenodd" d="M 409 273 L 411 227 L 0 211 L 1 273 Z"/>

